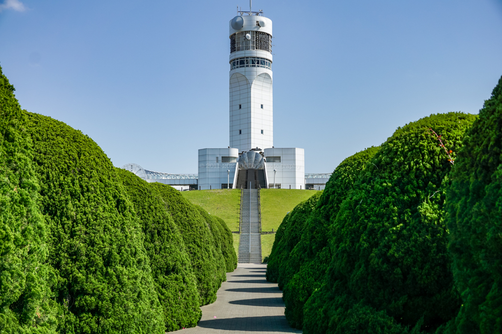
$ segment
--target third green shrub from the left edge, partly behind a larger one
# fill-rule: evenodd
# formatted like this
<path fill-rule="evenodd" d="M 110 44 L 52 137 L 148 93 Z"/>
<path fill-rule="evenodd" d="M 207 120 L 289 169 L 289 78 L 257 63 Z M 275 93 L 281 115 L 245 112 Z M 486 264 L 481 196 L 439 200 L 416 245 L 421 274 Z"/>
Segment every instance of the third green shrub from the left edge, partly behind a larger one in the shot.
<path fill-rule="evenodd" d="M 123 169 L 116 172 L 141 220 L 166 330 L 194 327 L 201 317 L 200 296 L 185 242 L 165 201 L 151 183 Z"/>

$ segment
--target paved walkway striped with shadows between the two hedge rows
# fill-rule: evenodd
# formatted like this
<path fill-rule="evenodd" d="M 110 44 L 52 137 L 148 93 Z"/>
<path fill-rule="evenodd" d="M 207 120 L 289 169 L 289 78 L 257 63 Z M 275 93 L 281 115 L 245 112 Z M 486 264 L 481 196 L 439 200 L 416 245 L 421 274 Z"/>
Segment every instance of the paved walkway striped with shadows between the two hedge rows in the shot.
<path fill-rule="evenodd" d="M 266 264 L 239 263 L 226 274 L 214 303 L 202 306 L 197 327 L 173 333 L 301 333 L 284 316 L 282 291 L 265 279 Z"/>

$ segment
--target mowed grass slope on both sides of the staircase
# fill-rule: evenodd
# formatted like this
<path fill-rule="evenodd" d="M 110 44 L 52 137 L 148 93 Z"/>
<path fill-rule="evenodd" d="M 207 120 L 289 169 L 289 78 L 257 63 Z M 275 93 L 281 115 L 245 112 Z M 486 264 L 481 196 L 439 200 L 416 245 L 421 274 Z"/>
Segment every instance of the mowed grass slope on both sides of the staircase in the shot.
<path fill-rule="evenodd" d="M 239 230 L 240 189 L 192 190 L 181 192 L 190 202 L 200 205 L 210 214 L 223 219 L 231 231 Z M 262 189 L 262 231 L 277 231 L 286 213 L 310 198 L 315 190 Z M 262 257 L 270 255 L 275 234 L 262 234 Z M 238 254 L 239 235 L 233 234 L 233 246 Z"/>

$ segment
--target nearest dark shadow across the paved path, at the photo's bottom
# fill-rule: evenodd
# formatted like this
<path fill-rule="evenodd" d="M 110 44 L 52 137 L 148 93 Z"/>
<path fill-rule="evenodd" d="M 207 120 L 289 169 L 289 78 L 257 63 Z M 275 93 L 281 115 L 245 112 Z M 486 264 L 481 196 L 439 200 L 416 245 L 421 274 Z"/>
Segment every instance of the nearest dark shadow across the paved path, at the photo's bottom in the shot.
<path fill-rule="evenodd" d="M 273 331 L 281 328 L 282 333 L 295 333 L 286 321 L 284 315 L 266 315 L 227 319 L 201 320 L 199 327 L 213 328 L 220 330 L 242 330 L 242 331 Z"/>

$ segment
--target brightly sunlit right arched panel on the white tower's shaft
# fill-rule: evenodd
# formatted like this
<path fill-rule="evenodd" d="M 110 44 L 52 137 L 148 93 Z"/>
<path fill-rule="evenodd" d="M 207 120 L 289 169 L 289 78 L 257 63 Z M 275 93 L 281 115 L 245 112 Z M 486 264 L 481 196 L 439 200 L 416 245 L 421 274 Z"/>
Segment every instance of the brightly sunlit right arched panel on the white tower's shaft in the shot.
<path fill-rule="evenodd" d="M 272 77 L 268 73 L 259 74 L 253 81 L 251 112 L 255 127 L 251 129 L 253 143 L 262 149 L 274 146 Z"/>

